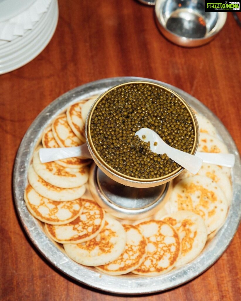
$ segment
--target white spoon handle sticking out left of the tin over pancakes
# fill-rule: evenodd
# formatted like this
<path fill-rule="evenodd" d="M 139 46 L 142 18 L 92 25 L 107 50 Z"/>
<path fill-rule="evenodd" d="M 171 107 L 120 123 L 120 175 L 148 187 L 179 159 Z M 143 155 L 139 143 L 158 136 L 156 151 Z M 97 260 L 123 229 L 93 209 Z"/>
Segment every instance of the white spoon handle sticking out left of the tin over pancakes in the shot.
<path fill-rule="evenodd" d="M 39 150 L 39 158 L 42 163 L 71 157 L 81 157 L 82 159 L 92 158 L 86 143 L 75 147 L 53 147 L 41 148 Z"/>

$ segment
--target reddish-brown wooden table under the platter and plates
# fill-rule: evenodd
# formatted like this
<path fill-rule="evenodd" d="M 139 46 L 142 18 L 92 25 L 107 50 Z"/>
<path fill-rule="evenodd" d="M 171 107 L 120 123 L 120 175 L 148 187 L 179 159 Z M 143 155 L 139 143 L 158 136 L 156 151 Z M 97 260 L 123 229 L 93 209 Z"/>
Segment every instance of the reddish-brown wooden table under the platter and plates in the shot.
<path fill-rule="evenodd" d="M 1 300 L 240 300 L 241 228 L 221 258 L 193 281 L 162 293 L 118 296 L 76 283 L 41 256 L 20 225 L 11 183 L 20 141 L 41 110 L 68 90 L 107 77 L 151 78 L 188 92 L 221 119 L 240 150 L 240 33 L 228 13 L 215 40 L 182 48 L 159 33 L 153 7 L 134 0 L 59 0 L 49 45 L 29 64 L 0 76 Z"/>

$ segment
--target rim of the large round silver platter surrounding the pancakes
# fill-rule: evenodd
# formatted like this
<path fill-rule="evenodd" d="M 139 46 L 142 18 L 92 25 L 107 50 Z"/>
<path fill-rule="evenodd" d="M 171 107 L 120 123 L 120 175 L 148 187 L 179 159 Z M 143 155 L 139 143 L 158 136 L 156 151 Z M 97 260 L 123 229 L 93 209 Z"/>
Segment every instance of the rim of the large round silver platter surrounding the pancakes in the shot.
<path fill-rule="evenodd" d="M 204 114 L 211 123 L 215 125 L 220 136 L 219 138 L 225 142 L 229 152 L 235 154 L 236 157 L 236 163 L 231 174 L 233 199 L 224 225 L 206 244 L 203 252 L 189 264 L 155 277 L 145 277 L 134 274 L 110 276 L 95 270 L 95 268 L 85 267 L 74 262 L 64 253 L 61 247 L 53 243 L 44 233 L 41 223 L 27 210 L 23 200 L 23 194 L 27 184 L 27 170 L 35 146 L 40 141 L 43 130 L 57 115 L 66 110 L 70 104 L 80 99 L 101 94 L 108 88 L 120 83 L 138 80 L 158 83 L 170 88 L 183 97 L 197 112 Z M 171 289 L 192 280 L 211 267 L 227 249 L 238 228 L 241 218 L 240 188 L 241 162 L 239 152 L 221 121 L 200 101 L 179 88 L 156 80 L 140 77 L 116 77 L 90 82 L 65 93 L 53 101 L 37 116 L 23 137 L 17 152 L 13 173 L 13 190 L 17 213 L 27 235 L 35 247 L 37 247 L 53 266 L 80 284 L 86 284 L 95 289 L 119 294 L 146 294 Z"/>

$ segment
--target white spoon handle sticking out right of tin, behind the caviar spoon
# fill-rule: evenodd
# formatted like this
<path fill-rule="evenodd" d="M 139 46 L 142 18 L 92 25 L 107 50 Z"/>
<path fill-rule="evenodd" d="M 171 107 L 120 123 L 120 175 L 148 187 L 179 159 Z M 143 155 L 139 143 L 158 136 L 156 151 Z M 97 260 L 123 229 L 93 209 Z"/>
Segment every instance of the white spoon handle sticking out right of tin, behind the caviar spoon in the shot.
<path fill-rule="evenodd" d="M 234 154 L 196 152 L 195 157 L 201 158 L 203 160 L 203 163 L 216 164 L 227 167 L 233 167 L 235 162 Z"/>

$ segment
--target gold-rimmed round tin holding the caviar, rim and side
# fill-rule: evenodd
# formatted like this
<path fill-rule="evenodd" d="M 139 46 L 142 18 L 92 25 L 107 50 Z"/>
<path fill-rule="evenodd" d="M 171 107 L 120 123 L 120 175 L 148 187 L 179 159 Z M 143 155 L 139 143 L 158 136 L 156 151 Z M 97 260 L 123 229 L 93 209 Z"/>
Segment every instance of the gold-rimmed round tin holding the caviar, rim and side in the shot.
<path fill-rule="evenodd" d="M 134 178 L 128 175 L 124 175 L 118 171 L 116 171 L 115 169 L 113 169 L 110 165 L 108 165 L 103 159 L 102 157 L 98 154 L 98 152 L 96 151 L 96 148 L 93 144 L 92 141 L 92 137 L 91 137 L 91 119 L 92 119 L 92 115 L 94 110 L 96 109 L 96 107 L 98 106 L 98 103 L 103 99 L 104 96 L 106 96 L 110 91 L 120 88 L 122 86 L 125 85 L 133 85 L 133 84 L 146 84 L 146 85 L 151 85 L 151 86 L 156 86 L 158 88 L 161 88 L 163 90 L 165 90 L 168 93 L 172 93 L 176 98 L 179 99 L 179 101 L 182 102 L 182 104 L 184 104 L 185 108 L 188 110 L 188 113 L 191 116 L 192 122 L 193 122 L 193 126 L 194 126 L 194 133 L 195 133 L 195 137 L 194 137 L 194 143 L 193 143 L 193 147 L 192 147 L 192 151 L 191 154 L 194 155 L 197 151 L 197 146 L 198 146 L 198 141 L 199 141 L 199 129 L 198 129 L 198 124 L 197 124 L 197 119 L 196 116 L 194 115 L 193 111 L 191 110 L 191 107 L 186 103 L 186 101 L 179 96 L 176 92 L 170 90 L 169 88 L 166 88 L 162 85 L 158 85 L 155 83 L 150 83 L 150 82 L 142 82 L 142 81 L 137 81 L 137 82 L 126 82 L 126 83 L 122 83 L 120 85 L 116 85 L 110 89 L 108 89 L 106 92 L 104 92 L 103 94 L 101 94 L 95 101 L 95 103 L 92 105 L 89 114 L 87 116 L 86 119 L 86 142 L 90 151 L 90 154 L 92 155 L 93 160 L 95 161 L 96 165 L 106 174 L 108 175 L 111 179 L 113 179 L 116 182 L 119 182 L 123 185 L 128 185 L 131 187 L 139 187 L 139 188 L 145 188 L 145 187 L 155 187 L 161 184 L 164 184 L 166 182 L 169 182 L 170 180 L 172 180 L 173 178 L 175 178 L 177 175 L 180 174 L 180 172 L 182 172 L 183 168 L 180 166 L 179 168 L 177 168 L 175 171 L 164 175 L 162 177 L 159 178 L 150 178 L 150 179 L 140 179 L 140 178 Z"/>

